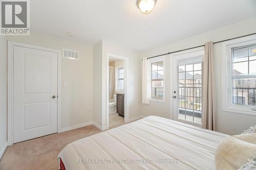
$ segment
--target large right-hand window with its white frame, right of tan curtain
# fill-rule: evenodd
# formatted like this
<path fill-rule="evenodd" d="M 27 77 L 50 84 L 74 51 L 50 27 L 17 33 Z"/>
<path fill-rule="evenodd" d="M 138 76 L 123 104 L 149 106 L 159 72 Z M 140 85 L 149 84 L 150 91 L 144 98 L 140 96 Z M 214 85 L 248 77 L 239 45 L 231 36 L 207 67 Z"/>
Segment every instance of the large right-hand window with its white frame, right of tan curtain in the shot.
<path fill-rule="evenodd" d="M 222 44 L 223 110 L 256 115 L 256 36 Z"/>

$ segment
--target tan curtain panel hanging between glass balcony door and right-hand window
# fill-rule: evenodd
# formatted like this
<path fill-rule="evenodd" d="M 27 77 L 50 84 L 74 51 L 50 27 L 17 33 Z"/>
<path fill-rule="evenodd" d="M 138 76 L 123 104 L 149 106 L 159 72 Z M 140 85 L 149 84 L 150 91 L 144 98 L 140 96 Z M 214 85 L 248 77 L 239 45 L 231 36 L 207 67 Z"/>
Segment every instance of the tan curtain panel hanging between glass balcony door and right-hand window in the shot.
<path fill-rule="evenodd" d="M 202 128 L 216 131 L 216 108 L 214 90 L 214 43 L 204 46 Z"/>

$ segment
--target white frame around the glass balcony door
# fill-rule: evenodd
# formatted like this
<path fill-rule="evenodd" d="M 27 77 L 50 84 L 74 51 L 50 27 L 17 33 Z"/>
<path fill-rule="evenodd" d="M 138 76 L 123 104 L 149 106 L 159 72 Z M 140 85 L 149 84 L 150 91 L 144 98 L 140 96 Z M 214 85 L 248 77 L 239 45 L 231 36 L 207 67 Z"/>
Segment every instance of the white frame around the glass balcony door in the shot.
<path fill-rule="evenodd" d="M 175 75 L 177 67 L 174 67 L 173 65 L 174 65 L 174 62 L 177 60 L 177 57 L 180 55 L 186 55 L 186 54 L 189 55 L 189 53 L 203 52 L 203 51 L 204 51 L 204 46 L 193 48 L 190 50 L 185 50 L 182 52 L 173 53 L 170 55 L 170 57 L 171 57 L 171 59 L 170 59 L 170 106 L 172 106 L 172 108 L 170 109 L 170 117 L 172 117 L 173 120 L 176 120 L 178 122 L 190 124 L 190 125 L 197 126 L 197 127 L 201 127 L 201 125 L 196 124 L 196 123 L 189 123 L 189 122 L 183 122 L 182 120 L 178 120 L 175 115 L 176 113 L 174 113 L 174 99 L 173 99 L 174 85 L 173 85 L 173 83 L 174 83 L 174 81 L 176 81 L 175 79 L 177 79 L 177 75 Z M 187 55 L 182 58 L 187 58 Z M 178 98 L 176 98 L 176 100 L 178 100 Z"/>

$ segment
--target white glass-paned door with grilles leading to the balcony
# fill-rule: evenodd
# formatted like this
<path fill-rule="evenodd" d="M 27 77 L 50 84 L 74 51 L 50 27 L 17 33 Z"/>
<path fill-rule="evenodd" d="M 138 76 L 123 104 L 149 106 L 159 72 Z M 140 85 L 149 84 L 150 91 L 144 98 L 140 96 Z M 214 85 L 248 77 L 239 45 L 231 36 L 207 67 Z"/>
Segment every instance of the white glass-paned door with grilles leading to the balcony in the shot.
<path fill-rule="evenodd" d="M 172 57 L 173 116 L 180 122 L 201 126 L 204 51 Z"/>

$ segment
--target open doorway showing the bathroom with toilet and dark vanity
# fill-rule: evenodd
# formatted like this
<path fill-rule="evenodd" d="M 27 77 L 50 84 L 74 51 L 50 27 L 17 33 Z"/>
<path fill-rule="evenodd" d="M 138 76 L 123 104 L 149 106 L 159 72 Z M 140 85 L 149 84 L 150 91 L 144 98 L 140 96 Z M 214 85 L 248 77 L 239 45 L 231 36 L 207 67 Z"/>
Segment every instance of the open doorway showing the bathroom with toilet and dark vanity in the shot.
<path fill-rule="evenodd" d="M 125 124 L 127 112 L 127 63 L 128 59 L 108 56 L 107 129 Z"/>

